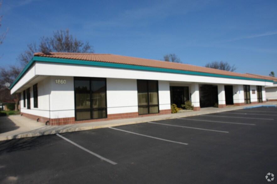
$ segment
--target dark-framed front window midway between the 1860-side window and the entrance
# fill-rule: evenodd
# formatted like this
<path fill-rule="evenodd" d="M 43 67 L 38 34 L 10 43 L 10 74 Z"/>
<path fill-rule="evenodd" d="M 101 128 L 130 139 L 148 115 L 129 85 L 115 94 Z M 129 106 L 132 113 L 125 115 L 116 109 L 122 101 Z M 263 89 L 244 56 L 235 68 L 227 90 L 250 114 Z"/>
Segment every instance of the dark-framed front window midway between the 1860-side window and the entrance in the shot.
<path fill-rule="evenodd" d="M 159 94 L 157 80 L 137 80 L 138 114 L 159 113 Z"/>

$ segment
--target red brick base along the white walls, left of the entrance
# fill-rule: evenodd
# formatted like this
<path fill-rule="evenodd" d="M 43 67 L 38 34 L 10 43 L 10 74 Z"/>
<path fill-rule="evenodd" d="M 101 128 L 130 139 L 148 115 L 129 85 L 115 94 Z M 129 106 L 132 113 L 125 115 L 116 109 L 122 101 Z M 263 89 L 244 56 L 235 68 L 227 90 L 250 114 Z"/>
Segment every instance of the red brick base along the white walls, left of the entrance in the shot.
<path fill-rule="evenodd" d="M 95 121 L 107 121 L 107 120 L 116 120 L 116 119 L 126 119 L 126 118 L 137 118 L 137 117 L 144 117 L 144 116 L 171 114 L 171 110 L 170 109 L 160 110 L 160 113 L 146 114 L 146 115 L 138 115 L 138 112 L 108 114 L 107 118 L 95 119 L 95 120 L 80 120 L 80 121 L 75 121 L 75 117 L 49 119 L 49 118 L 40 117 L 40 116 L 36 116 L 36 115 L 30 115 L 30 114 L 26 114 L 26 113 L 21 113 L 21 114 L 25 117 L 28 117 L 28 118 L 34 119 L 34 120 L 37 120 L 39 118 L 38 121 L 42 122 L 42 123 L 46 123 L 46 121 L 49 121 L 50 125 L 67 125 L 67 124 L 75 124 L 75 123 L 89 123 L 89 122 L 95 122 Z"/>

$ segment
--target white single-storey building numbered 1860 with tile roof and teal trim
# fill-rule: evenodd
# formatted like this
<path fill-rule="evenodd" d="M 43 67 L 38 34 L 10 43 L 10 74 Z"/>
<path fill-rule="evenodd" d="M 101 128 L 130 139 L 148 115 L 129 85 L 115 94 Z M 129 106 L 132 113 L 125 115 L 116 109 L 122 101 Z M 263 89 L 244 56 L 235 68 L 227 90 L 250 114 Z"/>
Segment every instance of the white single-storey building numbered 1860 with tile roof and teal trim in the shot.
<path fill-rule="evenodd" d="M 113 54 L 35 53 L 11 85 L 20 113 L 64 125 L 266 101 L 273 80 L 189 64 Z"/>

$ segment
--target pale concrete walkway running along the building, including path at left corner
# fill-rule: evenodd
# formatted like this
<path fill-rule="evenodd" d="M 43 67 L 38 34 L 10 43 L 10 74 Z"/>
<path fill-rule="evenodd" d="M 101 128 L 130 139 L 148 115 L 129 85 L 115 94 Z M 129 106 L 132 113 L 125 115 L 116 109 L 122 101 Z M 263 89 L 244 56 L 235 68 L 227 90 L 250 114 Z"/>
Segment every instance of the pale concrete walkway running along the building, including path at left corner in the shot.
<path fill-rule="evenodd" d="M 58 125 L 58 126 L 46 126 L 43 123 L 36 122 L 35 120 L 31 120 L 24 116 L 11 115 L 8 117 L 0 117 L 1 130 L 3 130 L 4 127 L 7 127 L 8 123 L 11 124 L 12 126 L 11 128 L 12 131 L 0 133 L 0 141 L 18 139 L 18 138 L 24 138 L 24 137 L 35 137 L 40 135 L 49 135 L 49 134 L 56 134 L 56 133 L 106 128 L 106 127 L 120 126 L 120 125 L 130 125 L 130 124 L 136 124 L 136 123 L 145 123 L 148 121 L 158 121 L 158 120 L 175 119 L 175 118 L 182 118 L 182 117 L 188 117 L 188 116 L 212 114 L 217 112 L 239 110 L 246 107 L 255 107 L 257 105 L 277 105 L 277 102 L 266 102 L 263 104 L 253 104 L 253 105 L 243 105 L 243 106 L 227 106 L 226 108 L 208 107 L 208 108 L 202 108 L 200 111 L 188 111 L 188 112 L 182 112 L 182 113 L 176 113 L 176 114 L 154 115 L 154 116 L 139 117 L 139 118 L 99 121 L 99 122 L 80 123 L 80 124 L 71 124 L 71 125 Z"/>

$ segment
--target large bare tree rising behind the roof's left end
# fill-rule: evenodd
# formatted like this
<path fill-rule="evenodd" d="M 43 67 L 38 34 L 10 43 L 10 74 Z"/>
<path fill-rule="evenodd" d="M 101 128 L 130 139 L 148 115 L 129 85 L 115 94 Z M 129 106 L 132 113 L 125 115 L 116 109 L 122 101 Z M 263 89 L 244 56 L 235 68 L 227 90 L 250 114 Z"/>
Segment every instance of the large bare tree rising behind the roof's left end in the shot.
<path fill-rule="evenodd" d="M 27 49 L 19 54 L 18 61 L 22 66 L 25 66 L 33 57 L 35 52 L 75 52 L 75 53 L 93 53 L 93 47 L 89 42 L 78 40 L 69 30 L 57 30 L 53 32 L 51 37 L 41 37 L 40 43 L 30 43 Z"/>

